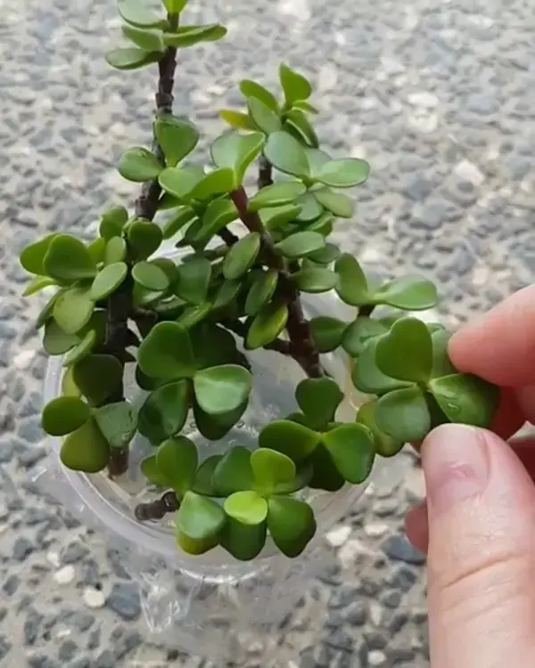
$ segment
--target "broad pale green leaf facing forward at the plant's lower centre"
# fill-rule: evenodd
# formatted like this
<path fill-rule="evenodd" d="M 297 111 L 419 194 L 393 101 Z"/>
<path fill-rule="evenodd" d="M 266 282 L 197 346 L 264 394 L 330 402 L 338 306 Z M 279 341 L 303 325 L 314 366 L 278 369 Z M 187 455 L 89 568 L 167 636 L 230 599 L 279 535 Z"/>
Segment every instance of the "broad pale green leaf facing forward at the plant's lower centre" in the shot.
<path fill-rule="evenodd" d="M 222 364 L 197 371 L 193 387 L 202 411 L 209 415 L 223 415 L 247 401 L 252 378 L 251 373 L 238 364 Z"/>

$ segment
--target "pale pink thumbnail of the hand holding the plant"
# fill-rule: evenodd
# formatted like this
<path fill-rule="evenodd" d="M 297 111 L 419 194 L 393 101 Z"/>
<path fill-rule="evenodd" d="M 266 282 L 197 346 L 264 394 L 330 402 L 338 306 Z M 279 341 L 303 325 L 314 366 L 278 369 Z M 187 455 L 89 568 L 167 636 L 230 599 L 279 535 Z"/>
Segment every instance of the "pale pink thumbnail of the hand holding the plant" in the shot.
<path fill-rule="evenodd" d="M 480 429 L 441 425 L 424 440 L 422 459 L 430 512 L 444 512 L 487 486 L 489 457 Z"/>

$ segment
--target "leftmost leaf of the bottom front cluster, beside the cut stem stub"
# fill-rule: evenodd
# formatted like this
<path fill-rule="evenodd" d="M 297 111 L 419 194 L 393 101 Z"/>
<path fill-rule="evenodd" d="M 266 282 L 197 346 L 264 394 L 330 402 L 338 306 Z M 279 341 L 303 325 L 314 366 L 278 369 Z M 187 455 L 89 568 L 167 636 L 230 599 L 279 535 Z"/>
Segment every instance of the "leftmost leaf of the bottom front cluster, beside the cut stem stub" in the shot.
<path fill-rule="evenodd" d="M 215 501 L 189 491 L 177 510 L 175 523 L 178 546 L 187 554 L 200 555 L 218 544 L 226 515 Z"/>

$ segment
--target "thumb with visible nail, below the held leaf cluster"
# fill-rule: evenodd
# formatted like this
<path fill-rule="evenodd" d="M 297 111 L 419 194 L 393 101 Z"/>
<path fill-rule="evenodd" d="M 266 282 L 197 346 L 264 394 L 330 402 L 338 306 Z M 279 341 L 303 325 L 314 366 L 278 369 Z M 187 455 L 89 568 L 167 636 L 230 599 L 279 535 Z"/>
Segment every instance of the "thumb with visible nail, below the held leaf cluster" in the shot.
<path fill-rule="evenodd" d="M 432 668 L 532 668 L 535 487 L 483 429 L 443 425 L 422 446 Z"/>

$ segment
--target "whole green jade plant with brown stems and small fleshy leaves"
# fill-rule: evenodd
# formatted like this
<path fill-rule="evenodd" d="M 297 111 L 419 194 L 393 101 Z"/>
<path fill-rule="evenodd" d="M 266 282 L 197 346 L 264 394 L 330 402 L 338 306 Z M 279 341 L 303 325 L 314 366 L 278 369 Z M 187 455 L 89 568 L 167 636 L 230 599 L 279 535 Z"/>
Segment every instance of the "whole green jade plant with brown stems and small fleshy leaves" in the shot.
<path fill-rule="evenodd" d="M 369 168 L 319 148 L 306 77 L 282 64 L 277 94 L 243 80 L 243 110 L 220 111 L 210 159 L 195 151 L 197 126 L 172 110 L 177 54 L 226 29 L 183 22 L 186 0 L 162 4 L 158 14 L 119 0 L 131 44 L 107 54 L 116 69 L 159 71 L 152 147 L 127 149 L 117 165 L 141 184 L 133 209 L 103 211 L 89 243 L 58 232 L 21 253 L 34 274 L 24 294 L 53 290 L 37 327 L 64 368 L 42 426 L 63 438 L 65 467 L 111 478 L 126 472 L 136 434 L 147 439 L 153 454 L 141 472 L 162 495 L 137 506 L 136 518 L 174 512 L 185 552 L 221 546 L 246 560 L 270 537 L 297 557 L 316 531 L 301 490 L 359 485 L 376 457 L 440 423 L 489 426 L 498 388 L 457 372 L 449 332 L 411 315 L 436 304 L 432 281 L 374 282 L 328 240 L 337 219 L 353 216 L 348 193 Z M 182 252 L 162 257 L 164 240 Z M 306 317 L 302 294 L 325 292 L 353 307 L 351 322 Z M 299 411 L 264 425 L 252 452 L 238 444 L 200 460 L 188 420 L 203 439 L 226 436 L 247 408 L 248 355 L 260 348 L 300 366 Z M 345 423 L 344 392 L 325 370 L 334 351 L 366 397 Z M 128 367 L 145 393 L 139 407 L 125 398 Z"/>

